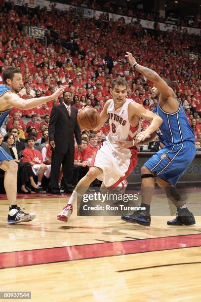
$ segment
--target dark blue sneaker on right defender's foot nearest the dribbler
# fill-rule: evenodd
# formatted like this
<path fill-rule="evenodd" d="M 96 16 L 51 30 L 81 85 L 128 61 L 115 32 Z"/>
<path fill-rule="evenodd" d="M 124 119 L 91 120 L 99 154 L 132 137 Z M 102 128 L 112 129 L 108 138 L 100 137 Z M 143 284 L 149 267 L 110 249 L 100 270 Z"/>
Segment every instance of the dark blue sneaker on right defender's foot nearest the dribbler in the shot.
<path fill-rule="evenodd" d="M 134 211 L 133 214 L 130 215 L 122 215 L 121 219 L 132 223 L 132 224 L 138 224 L 141 226 L 147 226 L 149 227 L 151 224 L 151 216 L 149 212 L 147 211 Z"/>

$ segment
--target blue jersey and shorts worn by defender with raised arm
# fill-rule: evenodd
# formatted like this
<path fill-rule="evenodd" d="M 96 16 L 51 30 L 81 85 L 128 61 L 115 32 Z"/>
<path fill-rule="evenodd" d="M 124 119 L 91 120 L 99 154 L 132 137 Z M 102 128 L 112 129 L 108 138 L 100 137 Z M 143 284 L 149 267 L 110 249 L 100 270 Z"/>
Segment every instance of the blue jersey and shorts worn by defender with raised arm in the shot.
<path fill-rule="evenodd" d="M 146 161 L 145 166 L 156 177 L 175 186 L 196 155 L 196 138 L 180 105 L 177 112 L 166 113 L 158 103 L 153 112 L 163 119 L 157 135 L 165 148 Z"/>

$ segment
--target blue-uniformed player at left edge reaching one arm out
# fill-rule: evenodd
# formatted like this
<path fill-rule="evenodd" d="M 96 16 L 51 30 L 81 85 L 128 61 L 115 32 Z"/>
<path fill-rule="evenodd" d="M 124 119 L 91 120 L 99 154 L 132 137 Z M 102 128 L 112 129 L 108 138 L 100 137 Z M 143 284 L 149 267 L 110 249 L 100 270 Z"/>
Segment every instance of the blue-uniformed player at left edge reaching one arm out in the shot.
<path fill-rule="evenodd" d="M 21 99 L 17 93 L 23 87 L 22 74 L 19 68 L 7 67 L 3 72 L 3 83 L 0 85 L 0 126 L 5 117 L 13 107 L 27 110 L 35 108 L 45 102 L 57 99 L 65 90 L 67 85 L 62 86 L 50 96 L 34 98 L 29 100 Z M 33 220 L 36 215 L 26 214 L 17 206 L 17 170 L 18 165 L 13 158 L 0 147 L 0 169 L 5 171 L 4 188 L 10 205 L 8 213 L 8 224 L 17 224 Z"/>

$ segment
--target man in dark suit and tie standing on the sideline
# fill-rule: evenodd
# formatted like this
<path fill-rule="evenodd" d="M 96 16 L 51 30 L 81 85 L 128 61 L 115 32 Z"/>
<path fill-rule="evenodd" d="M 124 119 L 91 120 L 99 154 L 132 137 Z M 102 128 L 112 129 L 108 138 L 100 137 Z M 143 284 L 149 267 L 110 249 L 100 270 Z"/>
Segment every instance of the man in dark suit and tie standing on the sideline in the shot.
<path fill-rule="evenodd" d="M 80 127 L 77 121 L 78 110 L 71 107 L 72 94 L 63 93 L 64 102 L 52 108 L 49 120 L 49 142 L 52 150 L 51 192 L 59 194 L 59 170 L 62 164 L 65 192 L 73 192 L 72 175 L 74 169 L 74 134 L 81 151 Z"/>

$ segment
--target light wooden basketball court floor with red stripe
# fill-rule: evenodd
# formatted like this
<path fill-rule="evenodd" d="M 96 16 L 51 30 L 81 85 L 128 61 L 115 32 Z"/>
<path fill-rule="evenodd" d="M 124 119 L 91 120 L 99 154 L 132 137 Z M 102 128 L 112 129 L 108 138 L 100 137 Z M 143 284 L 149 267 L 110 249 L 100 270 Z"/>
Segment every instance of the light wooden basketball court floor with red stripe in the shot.
<path fill-rule="evenodd" d="M 195 213 L 199 190 L 189 205 Z M 170 216 L 155 216 L 143 227 L 74 211 L 66 224 L 56 215 L 68 197 L 22 196 L 18 204 L 37 214 L 31 223 L 7 225 L 0 200 L 0 291 L 31 291 L 36 302 L 200 301 L 201 217 L 195 226 L 170 227 Z M 162 210 L 165 202 L 155 198 L 152 206 Z"/>

